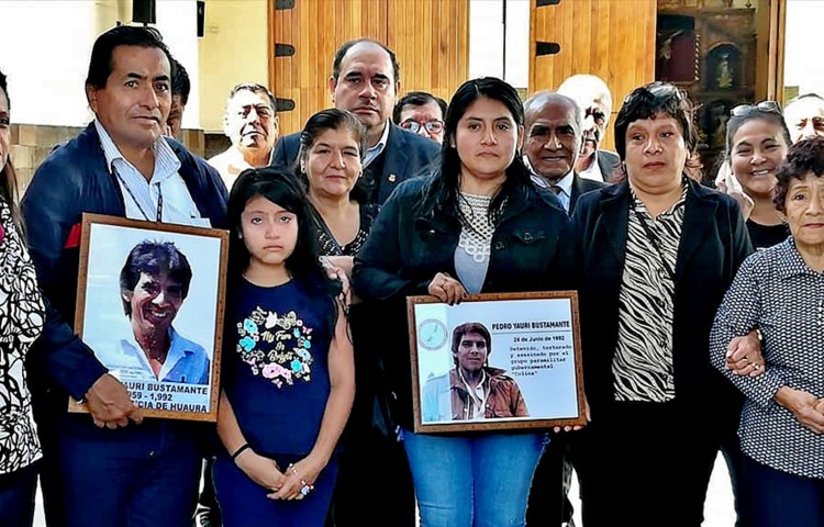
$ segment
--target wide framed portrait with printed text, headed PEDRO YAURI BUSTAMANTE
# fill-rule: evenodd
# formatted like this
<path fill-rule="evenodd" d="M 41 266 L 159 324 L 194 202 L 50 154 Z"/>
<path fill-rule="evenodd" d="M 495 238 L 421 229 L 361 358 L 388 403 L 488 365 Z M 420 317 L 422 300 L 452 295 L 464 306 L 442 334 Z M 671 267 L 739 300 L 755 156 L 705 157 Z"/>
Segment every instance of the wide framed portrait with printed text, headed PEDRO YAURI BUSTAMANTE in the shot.
<path fill-rule="evenodd" d="M 415 433 L 586 424 L 575 291 L 407 299 Z"/>

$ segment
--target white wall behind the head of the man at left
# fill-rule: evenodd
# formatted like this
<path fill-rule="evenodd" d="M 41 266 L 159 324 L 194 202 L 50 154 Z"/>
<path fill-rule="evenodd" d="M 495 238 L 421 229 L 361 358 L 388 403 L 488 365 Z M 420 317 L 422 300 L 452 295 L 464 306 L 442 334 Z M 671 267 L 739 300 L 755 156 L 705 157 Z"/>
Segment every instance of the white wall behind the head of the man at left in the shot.
<path fill-rule="evenodd" d="M 194 0 L 159 0 L 157 29 L 192 81 L 185 127 L 198 127 Z M 131 19 L 127 0 L 0 1 L 0 69 L 9 77 L 15 123 L 83 126 L 91 120 L 83 83 L 94 38 Z"/>

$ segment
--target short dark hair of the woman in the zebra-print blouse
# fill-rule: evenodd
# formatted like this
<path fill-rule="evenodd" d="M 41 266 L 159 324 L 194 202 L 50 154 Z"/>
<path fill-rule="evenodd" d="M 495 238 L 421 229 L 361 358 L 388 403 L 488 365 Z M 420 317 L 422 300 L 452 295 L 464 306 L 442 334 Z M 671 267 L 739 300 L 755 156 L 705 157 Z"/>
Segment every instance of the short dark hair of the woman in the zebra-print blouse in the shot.
<path fill-rule="evenodd" d="M 622 161 L 626 159 L 626 130 L 635 121 L 654 119 L 658 113 L 678 121 L 687 152 L 695 152 L 698 133 L 692 124 L 692 104 L 676 86 L 656 81 L 626 96 L 615 117 L 615 152 Z"/>

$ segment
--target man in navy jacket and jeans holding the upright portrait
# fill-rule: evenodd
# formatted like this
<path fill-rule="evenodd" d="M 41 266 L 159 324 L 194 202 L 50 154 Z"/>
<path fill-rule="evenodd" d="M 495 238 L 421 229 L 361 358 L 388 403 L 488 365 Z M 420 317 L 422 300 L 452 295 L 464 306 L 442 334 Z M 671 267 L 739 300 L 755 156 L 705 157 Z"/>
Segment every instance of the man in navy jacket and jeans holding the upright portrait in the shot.
<path fill-rule="evenodd" d="M 223 227 L 226 189 L 205 161 L 162 133 L 171 105 L 168 49 L 146 29 L 98 37 L 86 92 L 94 121 L 34 175 L 22 210 L 46 301 L 27 372 L 43 444 L 52 526 L 178 527 L 191 522 L 203 425 L 143 421 L 123 384 L 75 335 L 83 212 Z M 88 414 L 68 414 L 68 397 Z M 137 426 L 140 424 L 140 426 Z"/>

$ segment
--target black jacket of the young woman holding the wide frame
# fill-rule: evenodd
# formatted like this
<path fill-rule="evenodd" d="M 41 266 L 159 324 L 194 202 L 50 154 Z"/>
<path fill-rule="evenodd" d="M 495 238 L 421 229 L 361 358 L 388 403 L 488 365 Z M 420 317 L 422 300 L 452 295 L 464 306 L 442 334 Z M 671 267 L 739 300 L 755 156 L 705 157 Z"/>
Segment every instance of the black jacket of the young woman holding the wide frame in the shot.
<path fill-rule="evenodd" d="M 398 396 L 399 424 L 410 426 L 412 393 L 405 298 L 428 294 L 437 272 L 455 271 L 460 235 L 457 217 L 417 204 L 431 178 L 405 181 L 378 214 L 366 245 L 355 257 L 353 287 L 375 309 L 375 327 L 398 339 L 378 350 Z M 481 292 L 575 289 L 569 218 L 555 195 L 527 186 L 510 195 L 495 226 Z"/>

